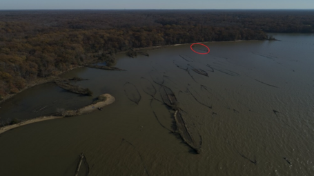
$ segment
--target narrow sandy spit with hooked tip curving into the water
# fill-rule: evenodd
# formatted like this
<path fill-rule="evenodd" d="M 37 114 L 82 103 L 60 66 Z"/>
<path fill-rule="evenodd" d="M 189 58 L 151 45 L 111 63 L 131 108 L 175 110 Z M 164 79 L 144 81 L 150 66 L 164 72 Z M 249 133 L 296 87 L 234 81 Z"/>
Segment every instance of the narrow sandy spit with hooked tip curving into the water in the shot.
<path fill-rule="evenodd" d="M 12 124 L 12 125 L 8 125 L 8 126 L 0 127 L 0 135 L 2 133 L 7 132 L 8 130 L 18 128 L 19 126 L 26 126 L 28 124 L 34 124 L 34 123 L 37 123 L 39 121 L 47 121 L 47 120 L 51 120 L 51 119 L 61 119 L 61 118 L 65 118 L 65 117 L 85 115 L 87 113 L 91 113 L 94 110 L 97 110 L 97 108 L 103 108 L 104 106 L 107 106 L 107 105 L 115 102 L 115 97 L 113 97 L 110 94 L 104 94 L 104 95 L 100 95 L 100 96 L 106 97 L 106 100 L 105 101 L 99 101 L 96 104 L 90 104 L 90 105 L 85 106 L 83 108 L 79 108 L 78 110 L 67 110 L 65 112 L 65 115 L 42 116 L 42 117 L 37 117 L 34 119 L 28 119 L 26 121 L 21 121 L 18 124 Z M 75 115 L 67 116 L 67 113 L 72 113 L 72 112 L 75 112 Z"/>

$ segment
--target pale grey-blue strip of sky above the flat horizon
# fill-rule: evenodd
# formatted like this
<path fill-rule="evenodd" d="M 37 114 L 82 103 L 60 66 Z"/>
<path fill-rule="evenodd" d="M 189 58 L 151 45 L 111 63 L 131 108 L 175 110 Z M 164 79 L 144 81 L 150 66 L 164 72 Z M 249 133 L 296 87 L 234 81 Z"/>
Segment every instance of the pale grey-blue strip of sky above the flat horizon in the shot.
<path fill-rule="evenodd" d="M 314 0 L 0 0 L 0 10 L 314 9 Z"/>

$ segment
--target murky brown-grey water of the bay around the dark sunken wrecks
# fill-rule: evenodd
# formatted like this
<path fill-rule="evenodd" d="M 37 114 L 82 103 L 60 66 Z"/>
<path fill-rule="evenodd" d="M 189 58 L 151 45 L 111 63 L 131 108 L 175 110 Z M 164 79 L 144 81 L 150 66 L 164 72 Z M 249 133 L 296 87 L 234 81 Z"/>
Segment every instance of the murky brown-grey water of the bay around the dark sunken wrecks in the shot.
<path fill-rule="evenodd" d="M 89 79 L 75 84 L 90 88 L 92 97 L 54 84 L 22 92 L 1 104 L 3 119 L 77 108 L 104 93 L 116 101 L 102 111 L 1 134 L 1 175 L 74 175 L 81 152 L 90 175 L 314 175 L 314 36 L 273 35 L 281 41 L 206 43 L 208 55 L 189 45 L 135 59 L 121 54 L 117 67 L 127 71 L 79 68 L 62 75 Z M 157 90 L 153 101 L 142 77 Z M 202 136 L 201 154 L 167 130 L 174 111 L 159 102 L 154 81 L 175 93 L 190 132 Z M 138 105 L 126 96 L 126 82 L 139 91 Z M 32 112 L 43 105 L 46 111 Z"/>

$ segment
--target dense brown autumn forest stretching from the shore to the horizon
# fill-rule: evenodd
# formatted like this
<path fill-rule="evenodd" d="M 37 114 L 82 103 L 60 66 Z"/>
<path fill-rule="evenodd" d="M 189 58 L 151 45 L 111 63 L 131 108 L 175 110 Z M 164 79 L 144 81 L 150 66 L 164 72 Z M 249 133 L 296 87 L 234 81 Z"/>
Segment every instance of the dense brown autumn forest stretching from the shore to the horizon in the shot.
<path fill-rule="evenodd" d="M 0 100 L 39 78 L 134 48 L 314 32 L 314 10 L 0 11 Z"/>

